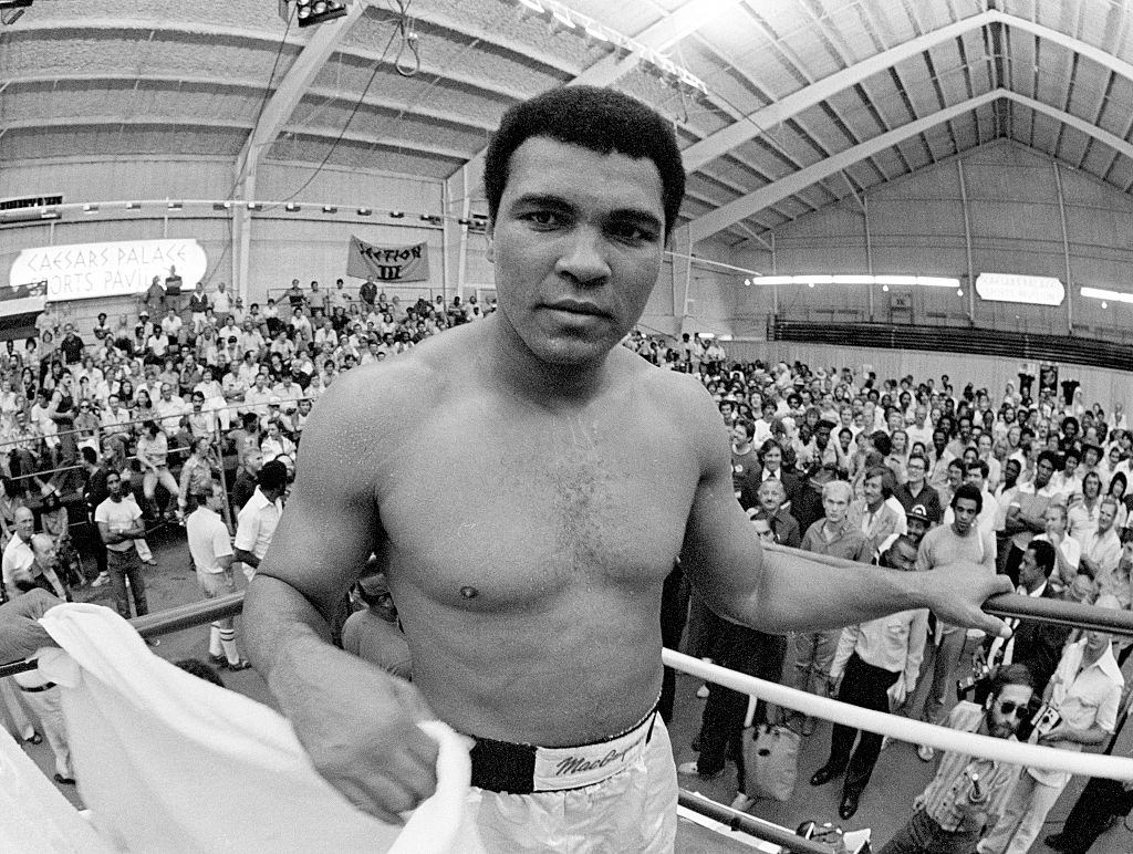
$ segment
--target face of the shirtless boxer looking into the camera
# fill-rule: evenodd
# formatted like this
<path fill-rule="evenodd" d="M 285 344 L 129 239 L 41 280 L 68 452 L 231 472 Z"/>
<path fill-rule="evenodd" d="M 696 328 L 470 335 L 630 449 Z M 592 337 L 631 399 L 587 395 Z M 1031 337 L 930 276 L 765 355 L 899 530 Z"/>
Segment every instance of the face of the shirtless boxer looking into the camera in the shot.
<path fill-rule="evenodd" d="M 530 138 L 511 155 L 491 234 L 505 328 L 542 361 L 597 364 L 657 280 L 661 174 L 648 159 Z"/>

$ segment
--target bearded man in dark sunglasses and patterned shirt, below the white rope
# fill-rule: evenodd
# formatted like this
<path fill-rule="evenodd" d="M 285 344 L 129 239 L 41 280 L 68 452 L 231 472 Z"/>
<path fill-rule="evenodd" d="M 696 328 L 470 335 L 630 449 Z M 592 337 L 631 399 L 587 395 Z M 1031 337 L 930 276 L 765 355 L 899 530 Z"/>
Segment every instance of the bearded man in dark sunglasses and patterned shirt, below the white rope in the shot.
<path fill-rule="evenodd" d="M 1000 667 L 983 707 L 962 701 L 948 726 L 965 733 L 1014 738 L 1033 688 L 1024 665 Z M 1019 776 L 1019 767 L 957 751 L 940 758 L 936 777 L 913 801 L 913 815 L 879 854 L 968 854 L 985 827 L 994 827 Z"/>

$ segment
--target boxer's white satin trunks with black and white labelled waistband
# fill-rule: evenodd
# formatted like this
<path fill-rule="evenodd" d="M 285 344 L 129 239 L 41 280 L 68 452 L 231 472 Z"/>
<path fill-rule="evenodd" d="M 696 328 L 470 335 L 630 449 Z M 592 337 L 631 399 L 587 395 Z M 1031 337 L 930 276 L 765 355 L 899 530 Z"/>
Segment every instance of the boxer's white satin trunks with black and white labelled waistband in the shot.
<path fill-rule="evenodd" d="M 672 852 L 676 769 L 661 715 L 573 748 L 477 740 L 465 820 L 472 852 Z"/>

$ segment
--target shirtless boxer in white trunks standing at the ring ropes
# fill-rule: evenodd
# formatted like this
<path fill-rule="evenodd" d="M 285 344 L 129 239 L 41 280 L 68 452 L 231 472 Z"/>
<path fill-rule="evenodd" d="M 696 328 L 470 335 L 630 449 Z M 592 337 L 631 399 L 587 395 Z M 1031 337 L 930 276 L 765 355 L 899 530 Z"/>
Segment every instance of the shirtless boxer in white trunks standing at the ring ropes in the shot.
<path fill-rule="evenodd" d="M 653 710 L 678 557 L 719 614 L 775 633 L 918 607 L 998 632 L 979 606 L 1010 583 L 761 549 L 709 394 L 617 345 L 683 193 L 666 120 L 555 89 L 504 118 L 485 183 L 499 310 L 320 399 L 249 587 L 248 651 L 315 767 L 383 820 L 433 793 L 416 724 L 435 717 L 477 738 L 468 813 L 489 849 L 562 848 L 585 825 L 595 849 L 670 851 L 676 782 Z M 411 685 L 329 643 L 372 552 Z"/>

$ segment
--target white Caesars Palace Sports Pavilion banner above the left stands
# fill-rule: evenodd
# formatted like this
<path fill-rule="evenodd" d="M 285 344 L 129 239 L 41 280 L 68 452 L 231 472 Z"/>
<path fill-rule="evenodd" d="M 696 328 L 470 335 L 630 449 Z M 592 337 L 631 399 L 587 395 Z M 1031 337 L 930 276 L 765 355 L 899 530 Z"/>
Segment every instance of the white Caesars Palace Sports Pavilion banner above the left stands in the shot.
<path fill-rule="evenodd" d="M 154 276 L 164 283 L 176 268 L 191 290 L 208 268 L 196 240 L 127 240 L 116 244 L 73 244 L 25 249 L 11 265 L 11 288 L 45 281 L 51 302 L 145 293 Z"/>

